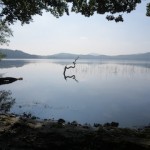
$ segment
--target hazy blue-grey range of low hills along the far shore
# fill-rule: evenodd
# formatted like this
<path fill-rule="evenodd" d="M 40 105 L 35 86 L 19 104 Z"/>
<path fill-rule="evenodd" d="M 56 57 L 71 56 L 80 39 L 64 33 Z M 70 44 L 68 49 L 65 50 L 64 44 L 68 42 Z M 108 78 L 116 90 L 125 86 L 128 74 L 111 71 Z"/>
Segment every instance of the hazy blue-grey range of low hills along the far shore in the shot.
<path fill-rule="evenodd" d="M 40 56 L 31 55 L 24 53 L 20 50 L 10 50 L 10 49 L 0 49 L 0 52 L 5 54 L 6 59 L 75 59 L 80 57 L 80 59 L 99 59 L 99 60 L 144 60 L 150 61 L 150 52 L 142 54 L 131 54 L 131 55 L 117 55 L 117 56 L 107 56 L 98 54 L 87 54 L 87 55 L 77 55 L 69 53 L 59 53 L 54 55 Z"/>

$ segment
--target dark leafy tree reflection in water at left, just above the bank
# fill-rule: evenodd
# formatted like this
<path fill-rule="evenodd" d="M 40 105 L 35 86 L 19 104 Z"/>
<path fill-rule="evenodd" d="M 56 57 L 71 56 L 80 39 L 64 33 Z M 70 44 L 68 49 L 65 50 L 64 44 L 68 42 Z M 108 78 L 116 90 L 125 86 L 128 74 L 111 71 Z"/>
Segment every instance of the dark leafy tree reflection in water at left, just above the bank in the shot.
<path fill-rule="evenodd" d="M 0 91 L 0 113 L 10 111 L 10 108 L 15 103 L 15 99 L 11 97 L 11 91 Z"/>

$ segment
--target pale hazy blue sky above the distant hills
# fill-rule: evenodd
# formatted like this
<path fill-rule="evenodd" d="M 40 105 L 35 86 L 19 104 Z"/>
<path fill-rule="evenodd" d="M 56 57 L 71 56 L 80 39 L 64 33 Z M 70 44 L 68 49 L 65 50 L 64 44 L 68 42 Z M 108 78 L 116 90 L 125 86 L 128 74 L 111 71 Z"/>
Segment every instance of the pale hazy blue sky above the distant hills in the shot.
<path fill-rule="evenodd" d="M 124 22 L 105 19 L 106 15 L 84 17 L 70 13 L 55 18 L 50 13 L 34 16 L 33 22 L 11 26 L 13 37 L 9 46 L 1 48 L 22 50 L 30 54 L 56 53 L 124 55 L 150 52 L 150 17 L 146 17 L 146 4 L 123 14 Z"/>

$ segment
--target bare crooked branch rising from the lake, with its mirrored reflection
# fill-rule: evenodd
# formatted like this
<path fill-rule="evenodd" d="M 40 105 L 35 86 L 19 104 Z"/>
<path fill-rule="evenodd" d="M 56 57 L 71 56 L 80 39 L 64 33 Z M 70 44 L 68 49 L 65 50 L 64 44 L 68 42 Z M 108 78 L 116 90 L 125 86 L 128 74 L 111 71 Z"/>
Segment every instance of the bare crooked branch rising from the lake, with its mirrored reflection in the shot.
<path fill-rule="evenodd" d="M 64 73 L 63 73 L 65 80 L 67 80 L 67 78 L 72 78 L 72 79 L 74 79 L 76 82 L 78 82 L 78 80 L 76 79 L 76 76 L 75 76 L 75 75 L 66 76 L 66 70 L 67 70 L 67 69 L 70 69 L 70 68 L 75 68 L 75 66 L 76 66 L 76 61 L 77 61 L 78 59 L 79 59 L 79 56 L 75 59 L 75 61 L 72 62 L 72 63 L 73 63 L 73 66 L 69 66 L 69 67 L 67 67 L 67 65 L 65 66 L 65 68 L 64 68 Z"/>

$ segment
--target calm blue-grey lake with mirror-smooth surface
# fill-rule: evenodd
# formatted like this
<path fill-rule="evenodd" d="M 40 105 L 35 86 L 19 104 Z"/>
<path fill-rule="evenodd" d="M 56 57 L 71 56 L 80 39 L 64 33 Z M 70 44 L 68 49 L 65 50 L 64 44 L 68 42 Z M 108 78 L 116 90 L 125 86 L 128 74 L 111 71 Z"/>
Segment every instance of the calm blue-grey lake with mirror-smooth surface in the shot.
<path fill-rule="evenodd" d="M 10 112 L 81 124 L 150 123 L 150 62 L 79 59 L 66 70 L 65 80 L 64 67 L 73 61 L 2 60 L 1 77 L 23 77 L 0 85 L 0 91 L 11 91 L 15 98 Z"/>

